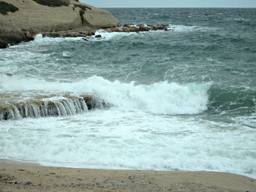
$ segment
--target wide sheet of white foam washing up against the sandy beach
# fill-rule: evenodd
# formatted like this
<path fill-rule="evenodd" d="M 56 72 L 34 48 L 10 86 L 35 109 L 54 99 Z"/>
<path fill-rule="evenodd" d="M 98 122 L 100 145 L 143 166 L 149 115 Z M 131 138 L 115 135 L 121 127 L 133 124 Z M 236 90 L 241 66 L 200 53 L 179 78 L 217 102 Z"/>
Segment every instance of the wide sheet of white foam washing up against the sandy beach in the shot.
<path fill-rule="evenodd" d="M 204 170 L 256 177 L 255 131 L 193 117 L 94 110 L 0 122 L 0 158 L 46 166 Z"/>

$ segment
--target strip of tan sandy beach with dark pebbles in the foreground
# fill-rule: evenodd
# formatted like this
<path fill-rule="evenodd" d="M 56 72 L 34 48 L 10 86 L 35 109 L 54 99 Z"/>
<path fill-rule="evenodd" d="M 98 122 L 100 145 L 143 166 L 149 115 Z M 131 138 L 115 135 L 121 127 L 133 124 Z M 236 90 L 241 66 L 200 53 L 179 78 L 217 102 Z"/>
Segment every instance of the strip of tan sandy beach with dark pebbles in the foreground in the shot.
<path fill-rule="evenodd" d="M 256 180 L 222 172 L 159 172 L 0 163 L 1 191 L 256 191 Z"/>

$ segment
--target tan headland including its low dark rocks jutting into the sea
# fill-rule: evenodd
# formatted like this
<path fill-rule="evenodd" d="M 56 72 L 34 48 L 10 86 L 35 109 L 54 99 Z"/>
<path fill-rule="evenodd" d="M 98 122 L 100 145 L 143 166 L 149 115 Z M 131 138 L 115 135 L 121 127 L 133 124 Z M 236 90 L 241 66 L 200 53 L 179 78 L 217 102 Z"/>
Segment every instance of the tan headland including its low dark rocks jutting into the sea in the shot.
<path fill-rule="evenodd" d="M 86 41 L 86 37 L 94 36 L 99 29 L 109 33 L 173 31 L 169 29 L 168 24 L 124 23 L 121 25 L 110 12 L 89 4 L 82 4 L 77 0 L 69 1 L 69 6 L 61 7 L 44 6 L 37 4 L 34 0 L 4 1 L 18 7 L 18 10 L 7 12 L 7 15 L 0 14 L 0 48 L 19 42 L 29 42 L 34 40 L 37 34 L 42 34 L 43 37 L 84 37 Z"/>

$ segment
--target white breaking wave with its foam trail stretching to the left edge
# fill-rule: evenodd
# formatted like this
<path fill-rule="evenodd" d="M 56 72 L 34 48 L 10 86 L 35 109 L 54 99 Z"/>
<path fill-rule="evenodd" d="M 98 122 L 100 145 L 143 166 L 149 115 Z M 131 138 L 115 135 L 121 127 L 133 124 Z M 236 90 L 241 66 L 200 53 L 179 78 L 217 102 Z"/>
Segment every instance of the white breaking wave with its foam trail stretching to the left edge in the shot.
<path fill-rule="evenodd" d="M 45 80 L 3 77 L 4 91 L 48 93 L 92 93 L 122 110 L 141 110 L 155 114 L 196 114 L 207 109 L 208 88 L 211 83 L 156 82 L 135 85 L 135 82 L 111 82 L 102 77 L 89 77 L 79 82 L 46 82 Z M 31 93 L 30 93 L 31 94 Z"/>

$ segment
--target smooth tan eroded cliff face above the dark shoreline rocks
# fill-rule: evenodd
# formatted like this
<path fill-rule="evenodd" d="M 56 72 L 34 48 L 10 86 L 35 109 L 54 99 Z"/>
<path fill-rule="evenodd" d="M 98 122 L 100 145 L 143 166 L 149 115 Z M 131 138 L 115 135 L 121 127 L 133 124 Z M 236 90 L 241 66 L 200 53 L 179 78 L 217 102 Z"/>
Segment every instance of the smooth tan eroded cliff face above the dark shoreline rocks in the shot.
<path fill-rule="evenodd" d="M 30 34 L 64 31 L 79 26 L 106 28 L 119 23 L 110 12 L 89 4 L 70 1 L 69 6 L 48 7 L 33 0 L 1 0 L 18 7 L 16 12 L 0 14 L 0 47 L 30 40 Z M 82 10 L 80 4 L 88 9 Z M 81 14 L 82 13 L 82 14 Z M 30 36 L 30 35 L 29 35 Z"/>

